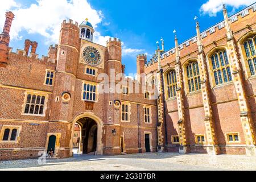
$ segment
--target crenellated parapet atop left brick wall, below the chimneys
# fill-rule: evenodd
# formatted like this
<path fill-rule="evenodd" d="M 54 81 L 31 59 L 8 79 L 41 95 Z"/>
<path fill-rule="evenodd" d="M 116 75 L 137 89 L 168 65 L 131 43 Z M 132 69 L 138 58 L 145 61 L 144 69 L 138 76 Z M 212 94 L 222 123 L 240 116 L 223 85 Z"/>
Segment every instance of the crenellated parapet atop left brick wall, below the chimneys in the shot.
<path fill-rule="evenodd" d="M 31 60 L 35 60 L 35 61 L 41 61 L 44 63 L 52 63 L 52 64 L 56 64 L 55 59 L 51 59 L 48 56 L 42 56 L 42 58 L 38 58 L 38 54 L 36 53 L 30 53 L 30 55 L 26 55 L 26 51 L 21 50 L 21 49 L 16 49 L 16 52 L 13 52 L 13 48 L 9 48 L 9 54 L 13 54 L 13 55 L 17 55 L 20 57 L 24 57 L 25 58 L 30 58 Z"/>

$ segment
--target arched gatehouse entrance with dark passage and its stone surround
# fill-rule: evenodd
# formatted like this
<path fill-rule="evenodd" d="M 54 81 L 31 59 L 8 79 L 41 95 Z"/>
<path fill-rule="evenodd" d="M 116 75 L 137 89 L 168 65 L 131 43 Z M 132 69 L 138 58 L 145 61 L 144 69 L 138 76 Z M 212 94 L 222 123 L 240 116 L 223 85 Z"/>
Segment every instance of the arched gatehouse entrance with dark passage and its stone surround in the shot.
<path fill-rule="evenodd" d="M 76 137 L 75 125 L 79 125 L 81 129 L 80 136 L 78 137 L 77 143 L 79 143 L 80 154 L 103 154 L 103 144 L 102 144 L 102 127 L 103 123 L 100 118 L 98 118 L 93 113 L 84 113 L 78 115 L 73 120 L 72 127 L 72 138 L 71 138 L 71 156 L 73 148 L 73 137 Z"/>

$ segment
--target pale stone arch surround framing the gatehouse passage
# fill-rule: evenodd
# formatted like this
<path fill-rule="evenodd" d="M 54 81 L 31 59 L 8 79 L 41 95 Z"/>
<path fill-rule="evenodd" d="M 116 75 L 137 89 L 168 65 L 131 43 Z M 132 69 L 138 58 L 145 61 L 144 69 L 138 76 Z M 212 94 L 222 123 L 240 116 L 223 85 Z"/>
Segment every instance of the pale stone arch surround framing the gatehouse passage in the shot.
<path fill-rule="evenodd" d="M 80 115 L 77 115 L 73 119 L 73 121 L 72 121 L 71 140 L 69 142 L 69 147 L 70 147 L 69 155 L 72 156 L 72 150 L 73 150 L 73 142 L 72 142 L 72 140 L 73 140 L 73 129 L 75 127 L 75 124 L 79 120 L 81 120 L 82 118 L 92 119 L 97 124 L 97 127 L 94 126 L 94 131 L 97 132 L 97 134 L 96 134 L 96 136 L 97 136 L 97 143 L 94 143 L 94 146 L 96 145 L 96 155 L 102 155 L 103 154 L 103 143 L 102 143 L 103 122 L 101 121 L 101 119 L 99 117 L 97 117 L 97 115 L 95 115 L 94 113 L 91 113 L 91 112 L 82 113 Z M 93 129 L 93 127 L 92 127 L 92 129 Z M 93 135 L 93 136 L 95 136 L 95 135 Z M 93 143 L 92 143 L 92 147 L 93 147 Z"/>

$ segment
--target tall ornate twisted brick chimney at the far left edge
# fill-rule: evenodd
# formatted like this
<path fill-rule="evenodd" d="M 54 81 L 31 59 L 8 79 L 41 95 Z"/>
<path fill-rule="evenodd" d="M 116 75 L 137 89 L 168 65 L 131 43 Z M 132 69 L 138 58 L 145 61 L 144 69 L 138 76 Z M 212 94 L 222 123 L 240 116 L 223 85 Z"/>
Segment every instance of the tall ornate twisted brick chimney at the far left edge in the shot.
<path fill-rule="evenodd" d="M 0 34 L 0 67 L 6 67 L 8 61 L 8 51 L 10 43 L 10 30 L 11 22 L 13 22 L 14 14 L 9 11 L 5 14 L 5 26 L 3 27 L 3 32 Z"/>

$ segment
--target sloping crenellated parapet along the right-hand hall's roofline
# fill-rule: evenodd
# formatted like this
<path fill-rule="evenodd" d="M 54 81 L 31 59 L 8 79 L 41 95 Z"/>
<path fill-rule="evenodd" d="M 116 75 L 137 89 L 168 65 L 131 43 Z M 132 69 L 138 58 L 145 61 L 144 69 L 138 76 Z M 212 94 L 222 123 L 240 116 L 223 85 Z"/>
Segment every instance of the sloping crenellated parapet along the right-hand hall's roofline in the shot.
<path fill-rule="evenodd" d="M 230 23 L 233 24 L 233 23 L 237 22 L 238 20 L 245 18 L 247 15 L 250 14 L 250 10 L 252 11 L 252 13 L 254 13 L 256 11 L 256 3 L 253 3 L 252 5 L 246 7 L 245 9 L 239 11 L 238 13 L 229 16 Z M 214 26 L 201 32 L 200 35 L 201 35 L 202 40 L 207 39 L 208 36 L 217 34 L 218 31 L 222 30 L 222 28 L 225 28 L 225 20 L 222 20 L 221 22 L 214 24 Z M 182 51 L 184 48 L 187 48 L 196 42 L 197 42 L 197 36 L 193 36 L 192 38 L 185 40 L 183 43 L 180 43 L 178 46 L 179 50 Z M 161 59 L 164 59 L 170 55 L 173 55 L 174 53 L 175 53 L 175 47 L 164 52 L 161 55 Z M 149 67 L 150 65 L 158 62 L 158 60 L 156 59 L 155 56 L 156 55 L 154 55 L 152 57 L 152 59 L 150 59 L 150 61 L 148 61 L 148 63 L 145 64 L 145 67 Z"/>

